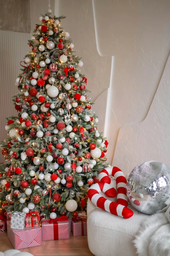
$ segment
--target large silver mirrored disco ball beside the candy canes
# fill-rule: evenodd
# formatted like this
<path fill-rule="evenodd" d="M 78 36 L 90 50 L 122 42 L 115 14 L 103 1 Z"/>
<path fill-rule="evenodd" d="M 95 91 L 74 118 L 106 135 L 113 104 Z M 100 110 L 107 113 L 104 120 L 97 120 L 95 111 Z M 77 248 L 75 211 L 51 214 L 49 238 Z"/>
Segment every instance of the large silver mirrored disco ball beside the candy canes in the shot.
<path fill-rule="evenodd" d="M 130 203 L 141 213 L 162 210 L 170 196 L 170 168 L 156 161 L 137 165 L 127 179 L 126 193 Z"/>

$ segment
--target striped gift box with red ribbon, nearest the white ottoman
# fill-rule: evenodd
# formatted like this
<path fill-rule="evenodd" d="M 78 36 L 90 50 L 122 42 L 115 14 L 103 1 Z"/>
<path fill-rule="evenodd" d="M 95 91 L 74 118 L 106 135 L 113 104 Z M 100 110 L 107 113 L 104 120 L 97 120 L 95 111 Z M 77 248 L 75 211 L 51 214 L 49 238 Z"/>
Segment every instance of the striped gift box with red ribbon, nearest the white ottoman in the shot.
<path fill-rule="evenodd" d="M 87 217 L 72 218 L 73 236 L 87 235 Z"/>

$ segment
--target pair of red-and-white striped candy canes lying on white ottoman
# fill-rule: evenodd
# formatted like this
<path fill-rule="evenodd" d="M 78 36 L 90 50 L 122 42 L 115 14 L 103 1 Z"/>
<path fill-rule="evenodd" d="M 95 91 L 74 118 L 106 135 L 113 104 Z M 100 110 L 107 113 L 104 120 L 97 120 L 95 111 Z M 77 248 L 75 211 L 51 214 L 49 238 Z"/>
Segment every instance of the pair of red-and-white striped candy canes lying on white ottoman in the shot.
<path fill-rule="evenodd" d="M 111 185 L 109 185 L 111 182 L 111 179 L 108 177 L 109 175 L 112 175 L 116 179 L 118 195 L 115 188 L 112 188 Z M 92 203 L 109 213 L 125 219 L 132 217 L 134 214 L 133 211 L 127 208 L 126 178 L 123 172 L 118 167 L 108 167 L 100 172 L 99 180 L 101 182 L 93 184 L 87 193 Z M 108 197 L 115 197 L 117 195 L 117 202 L 115 203 L 107 200 L 99 194 L 101 191 Z"/>

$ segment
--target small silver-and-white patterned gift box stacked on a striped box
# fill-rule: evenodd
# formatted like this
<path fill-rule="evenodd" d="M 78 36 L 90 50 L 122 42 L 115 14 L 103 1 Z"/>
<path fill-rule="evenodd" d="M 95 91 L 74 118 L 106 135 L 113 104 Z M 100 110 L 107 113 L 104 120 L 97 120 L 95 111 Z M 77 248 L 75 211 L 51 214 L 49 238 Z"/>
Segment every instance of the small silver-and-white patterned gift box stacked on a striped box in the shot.
<path fill-rule="evenodd" d="M 23 229 L 25 227 L 26 213 L 14 212 L 11 216 L 11 229 Z"/>

